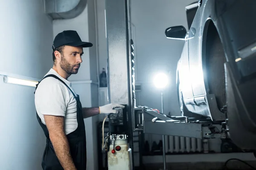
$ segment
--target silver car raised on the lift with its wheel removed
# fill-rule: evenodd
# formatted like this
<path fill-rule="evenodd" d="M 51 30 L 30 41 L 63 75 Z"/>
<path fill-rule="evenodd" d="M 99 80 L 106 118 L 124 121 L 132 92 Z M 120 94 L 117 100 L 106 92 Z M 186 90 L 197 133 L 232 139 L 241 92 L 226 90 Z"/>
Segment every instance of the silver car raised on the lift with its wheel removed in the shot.
<path fill-rule="evenodd" d="M 234 144 L 256 150 L 256 0 L 198 0 L 184 26 L 166 37 L 184 41 L 177 62 L 182 116 L 226 124 Z"/>

